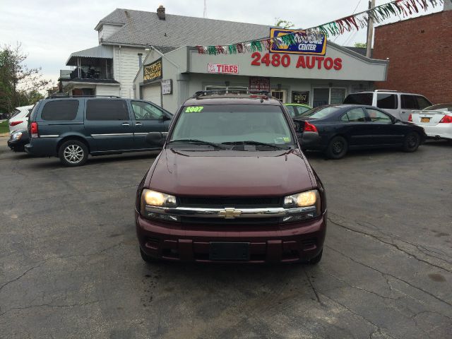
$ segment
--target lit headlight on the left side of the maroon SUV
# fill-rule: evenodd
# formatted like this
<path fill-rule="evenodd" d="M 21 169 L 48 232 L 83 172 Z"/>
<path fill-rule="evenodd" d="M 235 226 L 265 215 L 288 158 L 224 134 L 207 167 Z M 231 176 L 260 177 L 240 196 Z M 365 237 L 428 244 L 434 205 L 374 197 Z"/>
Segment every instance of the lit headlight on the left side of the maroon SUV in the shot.
<path fill-rule="evenodd" d="M 179 221 L 177 215 L 169 215 L 164 213 L 163 210 L 159 211 L 153 209 L 153 207 L 177 207 L 177 198 L 152 189 L 143 189 L 143 192 L 141 192 L 141 215 L 146 218 Z"/>

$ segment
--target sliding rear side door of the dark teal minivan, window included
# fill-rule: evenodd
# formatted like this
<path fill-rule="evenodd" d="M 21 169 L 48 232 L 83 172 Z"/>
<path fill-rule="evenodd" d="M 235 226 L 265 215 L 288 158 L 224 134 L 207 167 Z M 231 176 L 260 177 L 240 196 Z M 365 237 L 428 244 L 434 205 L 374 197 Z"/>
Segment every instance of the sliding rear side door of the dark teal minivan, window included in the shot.
<path fill-rule="evenodd" d="M 92 138 L 90 150 L 93 153 L 131 150 L 133 127 L 126 100 L 86 100 L 85 131 Z"/>

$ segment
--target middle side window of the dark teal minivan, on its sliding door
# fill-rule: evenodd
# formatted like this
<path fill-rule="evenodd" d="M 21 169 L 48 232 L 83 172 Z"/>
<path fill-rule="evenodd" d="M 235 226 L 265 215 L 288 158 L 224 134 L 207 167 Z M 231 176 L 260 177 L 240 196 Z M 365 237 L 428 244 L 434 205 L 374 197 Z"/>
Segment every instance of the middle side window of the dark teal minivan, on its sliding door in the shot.
<path fill-rule="evenodd" d="M 87 120 L 129 120 L 125 100 L 91 99 L 86 102 Z"/>

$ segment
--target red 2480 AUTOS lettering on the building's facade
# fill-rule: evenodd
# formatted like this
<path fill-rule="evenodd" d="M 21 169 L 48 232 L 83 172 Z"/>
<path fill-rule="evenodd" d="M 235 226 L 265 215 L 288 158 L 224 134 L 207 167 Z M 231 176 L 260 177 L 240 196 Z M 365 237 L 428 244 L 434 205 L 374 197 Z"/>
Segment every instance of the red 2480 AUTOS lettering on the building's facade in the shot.
<path fill-rule="evenodd" d="M 254 52 L 251 54 L 251 65 L 253 66 L 273 66 L 273 67 L 289 67 L 292 63 L 289 54 L 270 54 L 266 53 L 261 56 L 261 53 Z M 296 69 L 335 69 L 339 71 L 342 69 L 342 59 L 330 57 L 314 57 L 309 55 L 300 55 L 297 59 L 297 64 L 293 65 Z"/>

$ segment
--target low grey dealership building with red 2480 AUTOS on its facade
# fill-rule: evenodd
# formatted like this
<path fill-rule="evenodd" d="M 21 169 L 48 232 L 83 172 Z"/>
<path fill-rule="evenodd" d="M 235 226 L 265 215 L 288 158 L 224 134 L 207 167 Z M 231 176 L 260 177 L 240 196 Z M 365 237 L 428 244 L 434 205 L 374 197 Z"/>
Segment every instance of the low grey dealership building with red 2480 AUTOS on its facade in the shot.
<path fill-rule="evenodd" d="M 198 54 L 196 47 L 166 54 L 151 47 L 133 93 L 172 112 L 199 90 L 268 90 L 282 102 L 316 107 L 340 104 L 348 93 L 373 90 L 374 81 L 386 79 L 386 60 L 368 59 L 331 42 L 325 49 L 323 55 L 265 50 L 210 55 Z"/>

